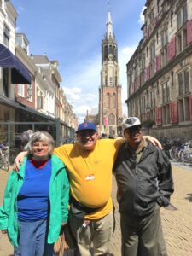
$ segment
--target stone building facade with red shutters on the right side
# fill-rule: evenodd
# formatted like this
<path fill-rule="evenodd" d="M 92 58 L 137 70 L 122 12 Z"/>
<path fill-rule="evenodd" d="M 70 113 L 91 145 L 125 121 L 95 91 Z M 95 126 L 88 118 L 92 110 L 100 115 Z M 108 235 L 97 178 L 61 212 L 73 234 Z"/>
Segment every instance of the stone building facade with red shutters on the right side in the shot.
<path fill-rule="evenodd" d="M 148 0 L 143 38 L 127 63 L 129 116 L 154 136 L 192 137 L 192 1 Z"/>

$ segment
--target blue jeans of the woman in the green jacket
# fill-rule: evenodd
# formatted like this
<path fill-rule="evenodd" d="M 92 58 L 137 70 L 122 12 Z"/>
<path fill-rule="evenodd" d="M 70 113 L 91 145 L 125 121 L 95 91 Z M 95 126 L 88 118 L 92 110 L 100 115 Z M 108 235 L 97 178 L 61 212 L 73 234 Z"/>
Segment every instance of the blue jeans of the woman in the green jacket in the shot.
<path fill-rule="evenodd" d="M 47 243 L 47 219 L 18 222 L 20 236 L 15 256 L 53 256 L 54 244 Z"/>

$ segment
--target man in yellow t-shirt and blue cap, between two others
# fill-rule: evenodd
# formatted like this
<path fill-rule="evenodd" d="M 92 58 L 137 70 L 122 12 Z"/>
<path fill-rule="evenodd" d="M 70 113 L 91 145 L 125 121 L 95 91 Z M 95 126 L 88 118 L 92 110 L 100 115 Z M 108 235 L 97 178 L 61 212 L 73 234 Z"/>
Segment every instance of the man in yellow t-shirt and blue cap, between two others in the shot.
<path fill-rule="evenodd" d="M 69 223 L 80 255 L 108 255 L 113 235 L 112 168 L 124 139 L 98 140 L 96 125 L 89 122 L 80 124 L 76 133 L 78 143 L 54 151 L 67 166 L 71 186 Z M 17 157 L 17 165 L 19 161 Z"/>

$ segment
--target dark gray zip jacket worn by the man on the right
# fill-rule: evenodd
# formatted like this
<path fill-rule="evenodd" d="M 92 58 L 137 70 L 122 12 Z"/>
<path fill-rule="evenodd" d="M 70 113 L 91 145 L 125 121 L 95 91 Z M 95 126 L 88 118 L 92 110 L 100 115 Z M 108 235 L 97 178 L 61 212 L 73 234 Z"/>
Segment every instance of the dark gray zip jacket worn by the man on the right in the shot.
<path fill-rule="evenodd" d="M 113 166 L 118 193 L 119 212 L 137 216 L 154 211 L 156 203 L 169 204 L 173 193 L 172 166 L 166 154 L 151 143 L 139 162 L 135 151 L 124 143 Z"/>

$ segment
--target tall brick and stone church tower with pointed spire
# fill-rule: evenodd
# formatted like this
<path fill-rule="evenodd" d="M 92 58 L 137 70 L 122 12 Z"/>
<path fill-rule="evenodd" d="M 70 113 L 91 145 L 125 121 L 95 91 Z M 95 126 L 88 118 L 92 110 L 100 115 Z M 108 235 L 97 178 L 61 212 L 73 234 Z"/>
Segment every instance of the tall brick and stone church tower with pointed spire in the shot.
<path fill-rule="evenodd" d="M 108 9 L 106 34 L 102 40 L 102 71 L 99 88 L 99 125 L 102 132 L 115 136 L 122 118 L 121 85 L 119 84 L 118 46 Z M 103 131 L 104 128 L 104 131 Z"/>

